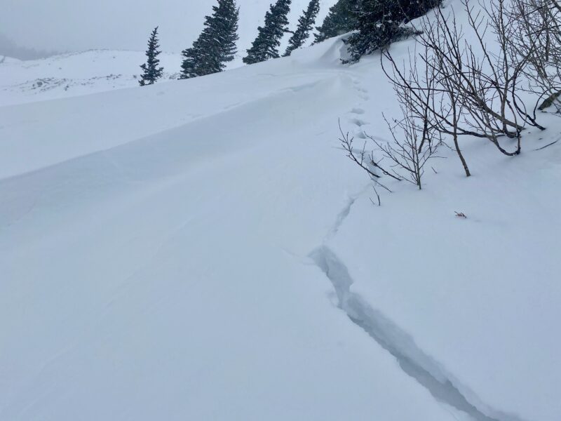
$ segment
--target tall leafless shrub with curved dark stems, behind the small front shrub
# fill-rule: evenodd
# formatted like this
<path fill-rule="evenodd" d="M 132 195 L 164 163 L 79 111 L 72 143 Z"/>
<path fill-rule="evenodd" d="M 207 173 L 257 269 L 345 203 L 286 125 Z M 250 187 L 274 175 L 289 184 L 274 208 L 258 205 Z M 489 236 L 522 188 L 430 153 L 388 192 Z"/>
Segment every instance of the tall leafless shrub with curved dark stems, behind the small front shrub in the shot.
<path fill-rule="evenodd" d="M 435 128 L 442 134 L 452 135 L 454 147 L 461 159 L 466 175 L 469 175 L 465 159 L 461 155 L 459 136 L 471 135 L 486 138 L 508 156 L 518 155 L 521 150 L 521 133 L 527 126 L 543 130 L 536 122 L 534 112 L 527 112 L 520 100 L 521 83 L 528 60 L 523 55 L 511 54 L 510 39 L 516 25 L 507 13 L 504 0 L 481 4 L 477 10 L 469 0 L 462 0 L 468 16 L 469 35 L 457 25 L 453 8 L 445 12 L 436 8 L 431 18 L 421 21 L 422 34 L 417 38 L 421 53 L 410 57 L 410 65 L 417 59 L 425 67 L 425 73 L 433 78 L 411 78 L 397 65 L 389 51 L 382 57 L 391 65 L 384 67 L 394 85 L 412 91 L 414 100 L 428 102 Z M 487 44 L 487 33 L 494 34 L 494 42 Z M 382 60 L 384 66 L 384 60 Z M 428 98 L 432 95 L 432 98 Z M 516 140 L 515 149 L 509 152 L 500 139 Z"/>

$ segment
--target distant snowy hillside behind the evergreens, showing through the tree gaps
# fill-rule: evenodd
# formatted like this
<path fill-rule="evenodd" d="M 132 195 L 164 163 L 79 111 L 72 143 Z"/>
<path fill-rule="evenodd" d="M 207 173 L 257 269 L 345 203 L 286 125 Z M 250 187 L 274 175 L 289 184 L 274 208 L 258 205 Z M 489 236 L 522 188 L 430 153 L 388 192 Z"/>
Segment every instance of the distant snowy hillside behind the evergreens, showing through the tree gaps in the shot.
<path fill-rule="evenodd" d="M 211 7 L 214 2 L 214 0 L 205 0 L 197 2 L 196 5 L 191 5 L 194 10 L 185 15 L 186 21 L 182 21 L 182 26 L 189 28 L 189 34 L 185 36 L 184 43 L 179 44 L 182 47 L 175 53 L 162 53 L 160 55 L 164 74 L 159 83 L 169 79 L 177 79 L 182 62 L 181 49 L 191 46 L 191 43 L 196 39 L 203 28 L 203 17 L 212 11 Z M 320 22 L 323 21 L 334 2 L 335 0 L 320 1 L 317 25 L 320 25 Z M 269 8 L 269 3 L 269 0 L 238 1 L 240 5 L 238 55 L 233 62 L 229 63 L 229 69 L 243 65 L 241 58 L 255 39 L 257 27 L 263 25 L 264 15 Z M 289 15 L 292 30 L 295 29 L 298 17 L 307 4 L 308 0 L 292 1 Z M 182 11 L 183 7 L 181 6 L 178 11 Z M 151 27 L 143 28 L 143 32 L 137 34 L 140 41 L 138 45 L 144 48 L 151 29 Z M 168 32 L 167 29 L 165 26 L 160 27 L 161 44 L 164 50 L 170 45 L 177 46 L 178 35 Z M 288 36 L 284 37 L 280 51 L 284 51 L 288 38 Z M 309 42 L 311 42 L 311 39 Z M 174 43 L 170 44 L 170 41 L 174 41 Z M 69 53 L 41 60 L 26 61 L 0 56 L 0 106 L 67 98 L 138 86 L 138 78 L 141 73 L 139 66 L 145 61 L 144 51 L 118 50 L 90 50 L 83 53 Z"/>

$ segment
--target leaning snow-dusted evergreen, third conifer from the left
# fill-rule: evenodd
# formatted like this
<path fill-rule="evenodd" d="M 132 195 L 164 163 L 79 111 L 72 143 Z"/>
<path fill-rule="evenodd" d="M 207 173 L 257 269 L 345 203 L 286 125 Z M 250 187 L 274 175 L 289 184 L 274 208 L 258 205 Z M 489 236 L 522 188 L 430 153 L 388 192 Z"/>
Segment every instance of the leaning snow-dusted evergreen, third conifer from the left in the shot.
<path fill-rule="evenodd" d="M 283 34 L 288 32 L 288 12 L 290 12 L 291 0 L 277 0 L 276 4 L 271 4 L 271 8 L 265 14 L 264 26 L 259 27 L 257 38 L 253 41 L 248 55 L 243 58 L 245 64 L 278 58 L 278 47 Z"/>

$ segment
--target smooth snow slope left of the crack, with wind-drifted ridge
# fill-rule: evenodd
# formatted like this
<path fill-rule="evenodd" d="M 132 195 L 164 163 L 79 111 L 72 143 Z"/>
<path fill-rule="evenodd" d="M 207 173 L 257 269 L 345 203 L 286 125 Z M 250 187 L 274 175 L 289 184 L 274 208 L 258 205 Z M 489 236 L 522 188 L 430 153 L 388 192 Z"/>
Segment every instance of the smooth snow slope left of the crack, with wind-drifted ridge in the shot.
<path fill-rule="evenodd" d="M 0 185 L 0 419 L 453 419 L 306 258 L 365 183 L 330 147 L 356 79 L 303 61 L 2 109 L 52 152 Z"/>

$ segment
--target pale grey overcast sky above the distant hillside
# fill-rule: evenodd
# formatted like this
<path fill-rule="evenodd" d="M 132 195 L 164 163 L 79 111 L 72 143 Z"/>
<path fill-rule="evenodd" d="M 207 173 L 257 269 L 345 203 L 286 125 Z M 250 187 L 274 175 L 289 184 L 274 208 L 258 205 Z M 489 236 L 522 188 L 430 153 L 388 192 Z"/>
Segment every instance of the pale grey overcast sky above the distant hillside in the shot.
<path fill-rule="evenodd" d="M 238 3 L 261 9 L 269 0 Z M 213 4 L 215 0 L 0 0 L 0 32 L 15 44 L 41 50 L 143 50 L 151 29 L 160 25 L 163 50 L 181 51 L 201 31 Z"/>

